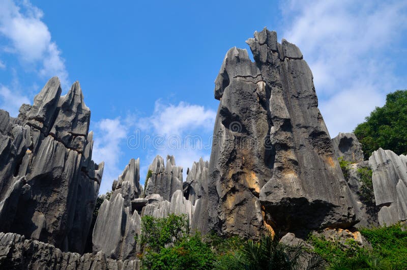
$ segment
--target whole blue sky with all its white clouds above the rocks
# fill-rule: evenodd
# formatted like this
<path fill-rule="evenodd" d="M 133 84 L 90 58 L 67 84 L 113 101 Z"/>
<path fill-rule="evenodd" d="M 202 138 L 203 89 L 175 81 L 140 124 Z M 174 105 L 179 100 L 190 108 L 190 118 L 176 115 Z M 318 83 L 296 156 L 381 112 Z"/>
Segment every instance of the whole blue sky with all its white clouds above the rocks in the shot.
<path fill-rule="evenodd" d="M 132 157 L 141 182 L 156 154 L 185 175 L 209 159 L 226 51 L 265 26 L 302 50 L 331 137 L 407 88 L 407 1 L 0 0 L 0 108 L 16 116 L 54 75 L 64 93 L 79 80 L 101 193 Z"/>

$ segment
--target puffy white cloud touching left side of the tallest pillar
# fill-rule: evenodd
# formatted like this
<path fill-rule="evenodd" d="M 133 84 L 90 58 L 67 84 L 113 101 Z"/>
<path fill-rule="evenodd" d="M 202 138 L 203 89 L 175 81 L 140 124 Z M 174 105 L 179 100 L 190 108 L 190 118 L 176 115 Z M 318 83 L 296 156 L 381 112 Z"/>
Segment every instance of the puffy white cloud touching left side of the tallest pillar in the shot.
<path fill-rule="evenodd" d="M 154 113 L 151 117 L 142 118 L 136 128 L 150 131 L 152 140 L 155 136 L 162 137 L 160 143 L 148 145 L 151 149 L 148 154 L 148 163 L 156 155 L 166 157 L 167 154 L 175 156 L 177 166 L 184 169 L 184 178 L 187 168 L 200 157 L 209 159 L 212 135 L 216 112 L 204 106 L 180 102 L 178 105 L 165 104 L 157 100 Z M 143 167 L 146 170 L 147 167 Z M 142 171 L 142 173 L 145 173 Z"/>

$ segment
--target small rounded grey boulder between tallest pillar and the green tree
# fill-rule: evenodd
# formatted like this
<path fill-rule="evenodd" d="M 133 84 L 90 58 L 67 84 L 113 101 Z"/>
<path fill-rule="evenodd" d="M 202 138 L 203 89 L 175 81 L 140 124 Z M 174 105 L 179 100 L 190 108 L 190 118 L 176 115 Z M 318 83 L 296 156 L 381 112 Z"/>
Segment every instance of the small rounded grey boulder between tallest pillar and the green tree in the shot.
<path fill-rule="evenodd" d="M 332 139 L 336 157 L 343 157 L 344 160 L 359 163 L 364 159 L 362 145 L 359 143 L 354 133 L 342 133 Z"/>

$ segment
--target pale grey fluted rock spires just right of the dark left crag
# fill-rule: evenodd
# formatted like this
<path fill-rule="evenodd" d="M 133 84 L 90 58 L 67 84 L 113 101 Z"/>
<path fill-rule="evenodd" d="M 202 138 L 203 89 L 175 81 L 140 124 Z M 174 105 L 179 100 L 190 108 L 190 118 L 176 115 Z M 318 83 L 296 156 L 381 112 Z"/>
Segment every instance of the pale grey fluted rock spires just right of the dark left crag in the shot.
<path fill-rule="evenodd" d="M 103 251 L 113 259 L 135 259 L 139 247 L 134 236 L 140 234 L 140 215 L 132 201 L 141 194 L 139 171 L 139 159 L 131 159 L 118 180 L 113 181 L 113 193 L 100 206 L 93 229 L 94 253 Z"/>

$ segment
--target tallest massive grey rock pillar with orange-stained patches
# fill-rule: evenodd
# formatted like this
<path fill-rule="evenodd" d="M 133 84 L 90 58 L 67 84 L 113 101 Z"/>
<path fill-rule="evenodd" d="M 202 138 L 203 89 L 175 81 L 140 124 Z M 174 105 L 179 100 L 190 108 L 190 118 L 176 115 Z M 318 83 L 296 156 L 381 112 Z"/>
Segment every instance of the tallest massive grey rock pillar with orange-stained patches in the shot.
<path fill-rule="evenodd" d="M 209 166 L 208 227 L 258 236 L 351 226 L 353 202 L 301 51 L 267 29 L 226 53 Z"/>

